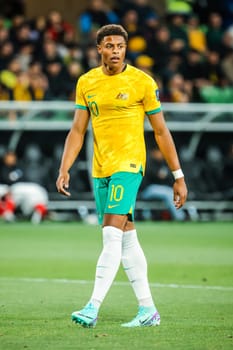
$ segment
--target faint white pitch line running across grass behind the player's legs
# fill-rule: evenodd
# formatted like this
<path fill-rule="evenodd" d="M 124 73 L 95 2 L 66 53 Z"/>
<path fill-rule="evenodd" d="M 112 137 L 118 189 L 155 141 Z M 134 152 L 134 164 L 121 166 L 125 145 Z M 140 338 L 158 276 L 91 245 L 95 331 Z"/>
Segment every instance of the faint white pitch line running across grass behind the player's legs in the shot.
<path fill-rule="evenodd" d="M 11 277 L 0 277 L 0 282 L 32 282 L 32 283 L 63 283 L 63 284 L 94 284 L 94 281 L 87 280 L 69 280 L 64 278 L 11 278 Z M 114 282 L 117 286 L 129 286 L 129 282 Z M 175 289 L 203 289 L 203 290 L 219 290 L 232 292 L 233 287 L 224 286 L 203 286 L 203 285 L 190 285 L 190 284 L 165 284 L 165 283 L 150 283 L 151 287 L 154 288 L 175 288 Z"/>

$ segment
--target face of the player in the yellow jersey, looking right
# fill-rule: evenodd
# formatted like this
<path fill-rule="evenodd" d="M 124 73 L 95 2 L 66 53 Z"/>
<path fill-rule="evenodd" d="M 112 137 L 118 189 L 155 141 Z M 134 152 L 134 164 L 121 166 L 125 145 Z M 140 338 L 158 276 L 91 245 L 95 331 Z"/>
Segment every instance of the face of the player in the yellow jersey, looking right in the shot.
<path fill-rule="evenodd" d="M 97 49 L 106 74 L 117 74 L 122 71 L 126 53 L 126 42 L 122 36 L 105 36 Z"/>

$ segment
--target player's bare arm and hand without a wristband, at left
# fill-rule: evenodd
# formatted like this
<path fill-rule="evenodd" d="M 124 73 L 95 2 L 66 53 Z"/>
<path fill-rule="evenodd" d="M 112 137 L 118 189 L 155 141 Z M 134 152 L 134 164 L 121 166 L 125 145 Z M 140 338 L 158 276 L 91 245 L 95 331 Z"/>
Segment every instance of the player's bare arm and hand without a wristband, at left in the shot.
<path fill-rule="evenodd" d="M 65 196 L 70 196 L 70 192 L 67 191 L 70 180 L 69 170 L 83 146 L 88 122 L 89 111 L 86 109 L 77 109 L 74 114 L 72 127 L 65 140 L 59 175 L 56 181 L 58 192 Z"/>

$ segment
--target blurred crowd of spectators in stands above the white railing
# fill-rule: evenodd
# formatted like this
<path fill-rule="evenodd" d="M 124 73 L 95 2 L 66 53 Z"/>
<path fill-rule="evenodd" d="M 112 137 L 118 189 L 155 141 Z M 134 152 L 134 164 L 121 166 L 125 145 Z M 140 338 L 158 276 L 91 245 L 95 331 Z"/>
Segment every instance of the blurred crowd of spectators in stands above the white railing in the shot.
<path fill-rule="evenodd" d="M 148 0 L 89 0 L 76 24 L 2 3 L 0 100 L 73 101 L 78 77 L 99 64 L 96 31 L 119 23 L 127 61 L 157 80 L 162 101 L 233 102 L 232 0 L 167 0 L 162 15 Z"/>

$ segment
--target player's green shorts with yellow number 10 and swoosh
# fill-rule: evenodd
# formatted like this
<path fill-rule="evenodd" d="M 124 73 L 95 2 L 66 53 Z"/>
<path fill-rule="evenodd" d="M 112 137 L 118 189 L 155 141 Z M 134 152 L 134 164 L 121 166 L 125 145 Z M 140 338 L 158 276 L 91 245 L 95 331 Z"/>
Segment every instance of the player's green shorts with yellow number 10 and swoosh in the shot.
<path fill-rule="evenodd" d="M 128 215 L 134 220 L 134 208 L 142 172 L 129 173 L 121 171 L 109 177 L 94 178 L 94 196 L 99 223 L 104 214 Z"/>

